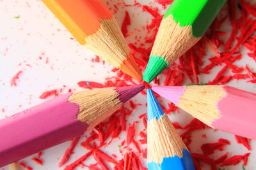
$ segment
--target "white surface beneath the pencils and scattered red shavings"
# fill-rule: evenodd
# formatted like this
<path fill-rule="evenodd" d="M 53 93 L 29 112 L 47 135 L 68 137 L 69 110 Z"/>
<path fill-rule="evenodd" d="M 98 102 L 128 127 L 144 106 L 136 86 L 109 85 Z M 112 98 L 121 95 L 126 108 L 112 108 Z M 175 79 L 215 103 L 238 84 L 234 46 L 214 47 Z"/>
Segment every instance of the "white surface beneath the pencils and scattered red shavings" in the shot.
<path fill-rule="evenodd" d="M 157 3 L 152 3 L 152 0 L 140 0 L 139 2 L 157 6 Z M 112 11 L 115 11 L 113 10 L 115 9 L 113 8 L 114 3 L 115 1 L 111 1 L 108 5 L 112 7 Z M 134 1 L 127 0 L 125 3 L 133 4 Z M 132 32 L 132 34 L 127 37 L 127 41 L 134 43 L 135 36 L 145 36 L 147 32 L 143 31 L 143 26 L 146 25 L 147 21 L 150 22 L 151 16 L 147 12 L 142 12 L 141 8 L 138 7 L 124 6 L 123 4 L 118 4 L 118 7 L 120 10 L 115 13 L 115 16 L 119 24 L 122 24 L 125 10 L 129 11 L 131 16 L 132 25 L 129 27 L 129 32 Z M 162 13 L 164 13 L 164 10 Z M 20 18 L 13 18 L 18 15 Z M 83 46 L 80 46 L 77 41 L 70 39 L 72 38 L 70 33 L 47 10 L 41 1 L 0 0 L 0 23 L 0 110 L 4 109 L 3 113 L 0 111 L 0 118 L 42 103 L 44 100 L 39 99 L 38 96 L 42 92 L 45 92 L 45 90 L 63 89 L 61 93 L 67 92 L 68 89 L 81 90 L 76 84 L 78 81 L 88 80 L 103 83 L 104 78 L 113 74 L 110 71 L 113 67 L 108 63 L 102 66 L 102 62 L 97 64 L 90 62 L 95 56 L 84 49 Z M 134 29 L 135 27 L 136 29 Z M 228 25 L 226 30 L 230 32 Z M 245 48 L 242 47 L 241 50 L 245 50 Z M 211 54 L 209 52 L 209 56 Z M 42 60 L 39 57 L 42 57 Z M 47 58 L 49 62 L 45 63 Z M 207 63 L 205 59 L 204 66 Z M 250 57 L 244 57 L 239 62 L 236 62 L 236 65 L 245 66 L 246 63 L 250 68 L 256 66 Z M 212 80 L 220 69 L 221 67 L 214 69 L 210 75 L 200 75 L 200 82 Z M 17 87 L 10 87 L 12 76 L 20 70 L 23 73 L 20 74 Z M 63 87 L 63 85 L 66 87 Z M 228 85 L 250 92 L 256 92 L 255 85 L 253 83 L 246 83 L 244 80 L 231 81 Z M 137 99 L 139 101 L 138 103 L 143 104 L 143 106 L 138 106 L 136 111 L 127 118 L 129 122 L 138 120 L 138 115 L 147 112 L 147 108 L 145 107 L 146 97 L 139 94 L 134 99 Z M 129 107 L 128 104 L 127 107 Z M 171 118 L 172 121 L 178 122 L 182 126 L 188 124 L 192 119 L 182 111 L 180 111 L 179 115 L 172 115 Z M 138 129 L 143 128 L 142 122 L 136 128 L 137 134 L 141 131 Z M 181 134 L 182 131 L 179 131 L 179 133 Z M 207 139 L 202 138 L 202 134 L 205 133 L 207 134 Z M 88 136 L 89 134 L 90 132 L 87 132 L 85 135 Z M 126 133 L 122 132 L 121 138 L 124 138 L 124 136 L 126 136 Z M 136 138 L 139 137 L 136 136 Z M 214 143 L 220 138 L 229 139 L 231 145 L 225 146 L 225 149 L 221 152 L 215 152 L 213 154 L 214 159 L 226 152 L 229 152 L 229 157 L 236 154 L 243 155 L 248 152 L 243 145 L 237 145 L 234 135 L 221 131 L 213 132 L 212 129 L 193 132 L 193 143 L 190 145 L 191 152 L 202 153 L 200 146 L 203 143 Z M 80 142 L 84 141 L 84 139 L 81 139 Z M 109 155 L 115 153 L 120 157 L 121 155 L 118 152 L 117 145 L 120 145 L 122 141 L 123 139 L 114 139 L 110 146 L 104 148 L 104 151 L 109 153 Z M 28 163 L 34 169 L 58 169 L 58 163 L 69 145 L 70 142 L 67 141 L 45 150 L 41 157 L 44 160 L 44 166 L 39 166 L 32 161 L 32 156 L 24 159 L 24 162 Z M 255 141 L 251 141 L 250 146 L 252 147 L 252 151 L 248 159 L 248 166 L 245 167 L 246 170 L 256 169 Z M 77 145 L 74 152 L 74 155 L 72 155 L 67 164 L 74 162 L 74 160 L 81 157 L 87 151 Z M 87 165 L 93 163 L 95 162 L 92 158 L 84 162 Z M 144 160 L 144 164 L 146 165 L 146 160 Z M 239 170 L 242 169 L 242 164 L 243 161 L 237 164 L 237 166 L 221 167 L 221 169 Z M 3 168 L 8 169 L 7 166 Z M 204 169 L 210 169 L 210 167 L 204 166 Z"/>

